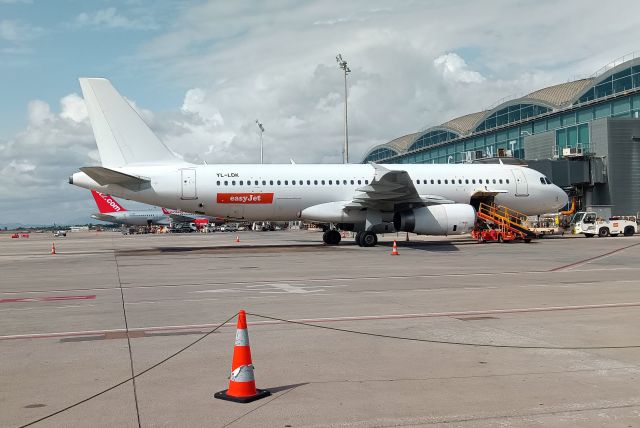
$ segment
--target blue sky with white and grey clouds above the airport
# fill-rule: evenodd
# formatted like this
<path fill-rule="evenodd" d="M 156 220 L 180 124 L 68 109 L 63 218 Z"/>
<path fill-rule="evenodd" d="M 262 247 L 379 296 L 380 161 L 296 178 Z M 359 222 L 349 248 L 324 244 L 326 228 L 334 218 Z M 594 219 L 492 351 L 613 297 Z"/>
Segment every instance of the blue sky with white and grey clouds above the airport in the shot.
<path fill-rule="evenodd" d="M 186 160 L 339 163 L 349 151 L 591 75 L 640 51 L 620 0 L 0 0 L 0 225 L 87 219 L 100 159 L 78 84 L 107 77 Z M 140 204 L 125 201 L 138 208 Z"/>

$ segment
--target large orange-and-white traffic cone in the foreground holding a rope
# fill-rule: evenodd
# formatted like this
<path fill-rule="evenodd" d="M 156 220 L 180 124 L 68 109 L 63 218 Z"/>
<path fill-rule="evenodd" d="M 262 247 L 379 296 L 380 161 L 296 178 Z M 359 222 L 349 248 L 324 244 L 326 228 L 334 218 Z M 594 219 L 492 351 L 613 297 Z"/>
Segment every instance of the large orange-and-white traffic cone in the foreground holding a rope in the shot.
<path fill-rule="evenodd" d="M 251 362 L 251 347 L 247 331 L 247 316 L 244 311 L 238 313 L 238 328 L 236 330 L 236 344 L 233 348 L 231 376 L 229 389 L 216 392 L 213 396 L 221 400 L 236 403 L 251 403 L 260 398 L 271 395 L 266 389 L 256 389 Z"/>

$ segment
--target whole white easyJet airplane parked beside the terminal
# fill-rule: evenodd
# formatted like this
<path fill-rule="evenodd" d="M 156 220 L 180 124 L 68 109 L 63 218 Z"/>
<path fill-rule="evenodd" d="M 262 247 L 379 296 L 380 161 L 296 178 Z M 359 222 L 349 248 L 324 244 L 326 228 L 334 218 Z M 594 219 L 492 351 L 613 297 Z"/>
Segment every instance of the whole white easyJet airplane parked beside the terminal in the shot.
<path fill-rule="evenodd" d="M 384 232 L 468 233 L 480 201 L 527 215 L 568 203 L 543 174 L 502 163 L 196 165 L 170 150 L 109 80 L 79 80 L 102 165 L 80 168 L 69 183 L 122 198 L 243 221 L 329 223 L 325 244 L 352 230 L 362 247 Z"/>

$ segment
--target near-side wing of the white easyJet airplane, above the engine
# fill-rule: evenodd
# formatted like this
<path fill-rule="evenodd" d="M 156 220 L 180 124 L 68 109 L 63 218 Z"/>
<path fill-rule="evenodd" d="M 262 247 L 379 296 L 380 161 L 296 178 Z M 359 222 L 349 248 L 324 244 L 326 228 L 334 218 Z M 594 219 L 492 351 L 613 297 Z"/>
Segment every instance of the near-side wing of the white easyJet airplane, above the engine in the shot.
<path fill-rule="evenodd" d="M 390 170 L 372 163 L 376 175 L 370 184 L 357 189 L 356 196 L 345 208 L 378 208 L 393 210 L 396 204 L 437 205 L 454 201 L 439 195 L 420 195 L 407 171 Z"/>

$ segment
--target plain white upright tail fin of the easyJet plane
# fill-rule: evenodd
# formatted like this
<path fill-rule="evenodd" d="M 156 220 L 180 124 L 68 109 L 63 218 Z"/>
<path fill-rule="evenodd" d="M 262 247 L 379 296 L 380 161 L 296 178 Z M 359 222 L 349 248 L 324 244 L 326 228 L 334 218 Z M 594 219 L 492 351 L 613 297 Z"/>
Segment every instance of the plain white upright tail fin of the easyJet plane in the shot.
<path fill-rule="evenodd" d="M 184 162 L 160 141 L 109 80 L 79 80 L 102 166 Z"/>

